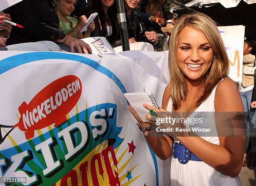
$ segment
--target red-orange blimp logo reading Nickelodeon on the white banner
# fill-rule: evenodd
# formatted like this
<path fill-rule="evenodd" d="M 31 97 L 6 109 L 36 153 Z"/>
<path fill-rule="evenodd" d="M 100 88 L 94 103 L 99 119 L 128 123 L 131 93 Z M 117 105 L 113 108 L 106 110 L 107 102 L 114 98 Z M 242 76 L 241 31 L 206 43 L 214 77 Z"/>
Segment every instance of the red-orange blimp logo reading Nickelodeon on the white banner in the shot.
<path fill-rule="evenodd" d="M 61 77 L 42 89 L 29 102 L 18 108 L 18 127 L 26 139 L 34 137 L 34 131 L 55 123 L 57 127 L 67 121 L 66 115 L 74 108 L 82 94 L 81 80 L 74 75 Z"/>

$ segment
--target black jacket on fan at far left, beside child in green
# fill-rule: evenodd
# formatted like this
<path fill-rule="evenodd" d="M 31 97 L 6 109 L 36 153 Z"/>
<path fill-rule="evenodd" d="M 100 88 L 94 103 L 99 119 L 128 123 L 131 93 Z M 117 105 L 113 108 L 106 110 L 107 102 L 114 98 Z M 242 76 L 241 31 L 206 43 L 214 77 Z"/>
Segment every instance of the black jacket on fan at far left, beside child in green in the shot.
<path fill-rule="evenodd" d="M 23 0 L 10 8 L 13 22 L 24 28 L 13 26 L 7 44 L 36 41 L 56 41 L 66 34 L 59 30 L 59 18 L 51 0 Z"/>

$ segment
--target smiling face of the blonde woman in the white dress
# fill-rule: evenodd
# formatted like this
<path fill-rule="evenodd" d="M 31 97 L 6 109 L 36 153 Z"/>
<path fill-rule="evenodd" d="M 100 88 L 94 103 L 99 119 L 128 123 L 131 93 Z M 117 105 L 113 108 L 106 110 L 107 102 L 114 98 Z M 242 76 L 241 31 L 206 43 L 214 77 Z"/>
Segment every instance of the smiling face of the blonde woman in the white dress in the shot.
<path fill-rule="evenodd" d="M 183 28 L 179 34 L 177 61 L 187 79 L 200 80 L 210 68 L 212 59 L 212 47 L 205 35 L 192 27 Z"/>

